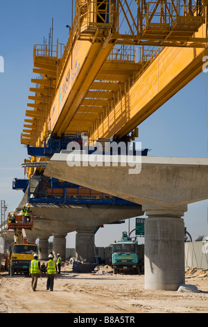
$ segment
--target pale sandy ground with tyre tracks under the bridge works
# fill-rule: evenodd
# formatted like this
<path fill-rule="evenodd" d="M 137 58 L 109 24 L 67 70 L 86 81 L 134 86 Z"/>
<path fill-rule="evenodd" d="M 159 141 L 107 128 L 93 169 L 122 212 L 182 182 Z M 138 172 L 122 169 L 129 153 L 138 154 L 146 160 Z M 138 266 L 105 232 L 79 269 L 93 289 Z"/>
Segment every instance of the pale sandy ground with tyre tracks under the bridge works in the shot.
<path fill-rule="evenodd" d="M 144 275 L 73 273 L 69 266 L 55 278 L 53 292 L 46 277 L 31 289 L 31 278 L 0 273 L 1 313 L 208 313 L 208 272 L 187 274 L 186 284 L 200 292 L 150 291 Z M 107 273 L 107 274 L 106 274 Z"/>

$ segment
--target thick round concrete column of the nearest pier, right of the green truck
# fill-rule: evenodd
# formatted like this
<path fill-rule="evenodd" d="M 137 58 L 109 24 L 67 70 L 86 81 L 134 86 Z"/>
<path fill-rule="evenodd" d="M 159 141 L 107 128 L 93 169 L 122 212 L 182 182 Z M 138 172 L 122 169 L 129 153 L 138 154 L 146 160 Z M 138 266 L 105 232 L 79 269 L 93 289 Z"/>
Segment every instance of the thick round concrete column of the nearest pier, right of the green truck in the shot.
<path fill-rule="evenodd" d="M 145 204 L 145 289 L 176 291 L 185 282 L 184 220 L 187 205 L 175 208 Z"/>

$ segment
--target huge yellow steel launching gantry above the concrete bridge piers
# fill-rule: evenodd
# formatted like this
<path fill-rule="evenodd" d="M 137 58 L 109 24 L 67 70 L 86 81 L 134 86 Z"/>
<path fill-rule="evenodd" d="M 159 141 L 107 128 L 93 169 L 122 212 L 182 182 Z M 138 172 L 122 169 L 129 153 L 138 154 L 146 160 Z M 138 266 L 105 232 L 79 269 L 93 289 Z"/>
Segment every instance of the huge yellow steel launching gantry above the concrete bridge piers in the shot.
<path fill-rule="evenodd" d="M 58 40 L 34 47 L 21 143 L 130 134 L 202 71 L 207 42 L 207 1 L 76 0 L 63 53 Z"/>

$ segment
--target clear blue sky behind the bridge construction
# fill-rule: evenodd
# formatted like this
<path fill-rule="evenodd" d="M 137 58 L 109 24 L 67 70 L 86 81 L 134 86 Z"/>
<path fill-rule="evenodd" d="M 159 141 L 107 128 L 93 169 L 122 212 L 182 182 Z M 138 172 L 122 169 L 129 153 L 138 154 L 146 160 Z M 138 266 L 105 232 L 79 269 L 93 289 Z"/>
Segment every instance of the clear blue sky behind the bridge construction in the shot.
<path fill-rule="evenodd" d="M 71 1 L 4 1 L 1 3 L 0 56 L 4 58 L 4 72 L 0 73 L 1 161 L 0 198 L 9 210 L 19 205 L 23 193 L 12 191 L 12 179 L 23 178 L 20 163 L 27 157 L 20 144 L 29 88 L 33 86 L 33 45 L 48 40 L 53 17 L 53 40 L 66 44 L 67 24 L 71 25 Z M 205 74 L 208 104 L 208 73 Z M 207 122 L 205 114 L 205 83 L 201 73 L 177 95 L 158 109 L 139 126 L 142 147 L 149 155 L 161 157 L 207 157 Z M 208 235 L 208 201 L 189 205 L 184 216 L 187 230 L 193 239 Z M 135 219 L 130 221 L 130 230 Z M 125 225 L 106 226 L 96 234 L 96 245 L 107 246 L 120 239 Z M 70 239 L 70 237 L 69 237 Z M 73 237 L 71 237 L 73 240 Z M 67 241 L 71 246 L 71 241 Z"/>

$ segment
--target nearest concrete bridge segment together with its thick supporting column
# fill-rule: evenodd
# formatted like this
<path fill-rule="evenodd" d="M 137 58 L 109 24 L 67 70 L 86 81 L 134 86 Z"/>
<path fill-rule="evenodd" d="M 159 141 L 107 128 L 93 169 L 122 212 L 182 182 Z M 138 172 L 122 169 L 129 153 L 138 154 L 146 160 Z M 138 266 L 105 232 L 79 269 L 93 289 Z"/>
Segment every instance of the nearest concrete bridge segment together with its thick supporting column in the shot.
<path fill-rule="evenodd" d="M 141 172 L 128 166 L 69 167 L 54 154 L 45 175 L 142 205 L 145 224 L 145 287 L 175 290 L 184 283 L 184 221 L 187 205 L 208 198 L 208 159 L 141 157 Z"/>

